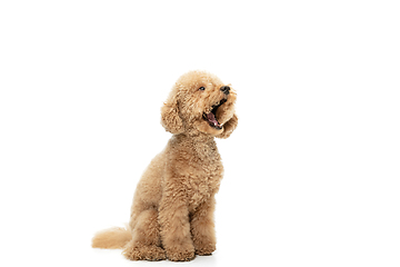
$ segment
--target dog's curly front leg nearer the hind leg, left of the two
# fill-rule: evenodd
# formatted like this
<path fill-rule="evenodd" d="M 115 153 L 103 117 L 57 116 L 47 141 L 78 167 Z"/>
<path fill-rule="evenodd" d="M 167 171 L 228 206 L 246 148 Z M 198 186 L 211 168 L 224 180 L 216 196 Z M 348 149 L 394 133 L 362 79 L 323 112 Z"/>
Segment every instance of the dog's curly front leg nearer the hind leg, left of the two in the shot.
<path fill-rule="evenodd" d="M 190 235 L 188 199 L 179 179 L 167 181 L 164 185 L 159 222 L 167 257 L 174 261 L 193 259 L 194 247 Z"/>

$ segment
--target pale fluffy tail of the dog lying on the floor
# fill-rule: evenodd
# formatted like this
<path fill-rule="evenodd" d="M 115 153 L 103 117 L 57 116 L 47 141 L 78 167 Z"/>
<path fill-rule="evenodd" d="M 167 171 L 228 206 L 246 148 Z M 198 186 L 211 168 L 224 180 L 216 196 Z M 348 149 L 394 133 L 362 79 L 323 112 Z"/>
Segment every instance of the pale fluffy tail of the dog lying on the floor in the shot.
<path fill-rule="evenodd" d="M 113 227 L 98 231 L 92 239 L 93 248 L 123 248 L 132 239 L 130 227 Z"/>

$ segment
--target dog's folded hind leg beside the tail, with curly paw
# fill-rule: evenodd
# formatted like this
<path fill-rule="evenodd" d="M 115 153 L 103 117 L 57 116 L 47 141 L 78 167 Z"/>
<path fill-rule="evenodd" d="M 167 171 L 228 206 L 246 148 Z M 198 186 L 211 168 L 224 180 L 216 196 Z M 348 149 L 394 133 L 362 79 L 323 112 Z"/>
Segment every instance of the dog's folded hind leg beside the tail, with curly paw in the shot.
<path fill-rule="evenodd" d="M 143 210 L 136 220 L 132 240 L 126 245 L 122 254 L 132 260 L 166 259 L 166 251 L 161 247 L 158 211 L 153 208 Z"/>

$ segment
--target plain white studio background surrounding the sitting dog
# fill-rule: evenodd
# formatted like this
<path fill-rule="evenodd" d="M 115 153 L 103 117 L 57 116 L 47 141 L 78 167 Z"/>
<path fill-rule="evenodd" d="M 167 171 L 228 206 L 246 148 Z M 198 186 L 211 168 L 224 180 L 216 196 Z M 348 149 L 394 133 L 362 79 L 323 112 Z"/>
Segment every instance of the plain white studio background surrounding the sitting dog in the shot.
<path fill-rule="evenodd" d="M 146 2 L 146 3 L 143 3 Z M 238 91 L 218 140 L 218 250 L 189 265 L 400 265 L 398 1 L 1 1 L 0 265 L 161 266 L 90 247 L 128 222 L 208 70 Z"/>

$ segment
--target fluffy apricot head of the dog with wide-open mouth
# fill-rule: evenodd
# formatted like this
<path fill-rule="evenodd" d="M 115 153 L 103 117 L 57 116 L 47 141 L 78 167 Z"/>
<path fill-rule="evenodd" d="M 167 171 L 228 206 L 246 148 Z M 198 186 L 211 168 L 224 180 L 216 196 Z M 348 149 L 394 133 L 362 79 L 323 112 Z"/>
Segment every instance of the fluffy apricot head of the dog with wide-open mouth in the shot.
<path fill-rule="evenodd" d="M 178 135 L 201 131 L 228 138 L 238 125 L 237 93 L 206 71 L 181 76 L 161 108 L 161 125 Z"/>

